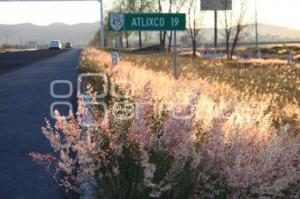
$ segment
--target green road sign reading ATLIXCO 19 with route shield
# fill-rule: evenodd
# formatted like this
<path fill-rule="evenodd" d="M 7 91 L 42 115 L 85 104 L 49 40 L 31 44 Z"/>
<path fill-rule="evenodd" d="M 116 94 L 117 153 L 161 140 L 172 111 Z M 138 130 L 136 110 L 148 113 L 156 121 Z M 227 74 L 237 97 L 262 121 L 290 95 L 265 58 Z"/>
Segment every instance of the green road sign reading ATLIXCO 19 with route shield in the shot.
<path fill-rule="evenodd" d="M 110 31 L 186 30 L 185 14 L 173 13 L 110 13 Z"/>

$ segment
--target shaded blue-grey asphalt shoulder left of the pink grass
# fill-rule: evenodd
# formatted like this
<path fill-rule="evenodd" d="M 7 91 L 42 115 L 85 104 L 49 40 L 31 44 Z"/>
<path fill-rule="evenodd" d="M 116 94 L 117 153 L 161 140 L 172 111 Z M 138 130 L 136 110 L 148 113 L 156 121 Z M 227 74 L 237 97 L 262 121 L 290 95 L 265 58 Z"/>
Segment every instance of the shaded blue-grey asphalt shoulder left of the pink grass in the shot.
<path fill-rule="evenodd" d="M 52 152 L 41 132 L 44 118 L 51 118 L 53 102 L 74 105 L 75 96 L 52 97 L 50 85 L 55 80 L 68 80 L 74 93 L 80 52 L 74 49 L 29 66 L 15 66 L 18 69 L 0 74 L 0 199 L 70 198 L 51 174 L 33 162 L 28 154 Z M 66 84 L 54 86 L 57 95 L 66 95 L 69 90 Z M 63 114 L 68 109 L 55 108 L 63 108 Z"/>

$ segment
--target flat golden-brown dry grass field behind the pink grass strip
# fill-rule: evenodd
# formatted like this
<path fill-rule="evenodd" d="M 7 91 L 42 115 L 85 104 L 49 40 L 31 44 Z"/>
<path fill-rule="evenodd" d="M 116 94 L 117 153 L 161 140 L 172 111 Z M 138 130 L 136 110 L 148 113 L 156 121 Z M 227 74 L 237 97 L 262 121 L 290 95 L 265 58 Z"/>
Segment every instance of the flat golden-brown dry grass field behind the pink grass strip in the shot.
<path fill-rule="evenodd" d="M 172 57 L 168 54 L 124 54 L 123 59 L 156 71 L 171 72 Z M 227 62 L 179 57 L 178 68 L 183 76 L 193 73 L 195 77 L 226 83 L 243 93 L 248 91 L 251 95 L 278 94 L 287 101 L 300 98 L 300 70 L 288 66 L 284 61 Z"/>

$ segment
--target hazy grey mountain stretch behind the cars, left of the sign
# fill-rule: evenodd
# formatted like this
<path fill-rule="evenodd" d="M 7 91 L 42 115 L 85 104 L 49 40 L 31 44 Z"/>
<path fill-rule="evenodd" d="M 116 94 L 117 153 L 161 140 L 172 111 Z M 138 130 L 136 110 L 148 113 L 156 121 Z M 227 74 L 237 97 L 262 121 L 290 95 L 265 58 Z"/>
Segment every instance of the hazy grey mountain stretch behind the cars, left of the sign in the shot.
<path fill-rule="evenodd" d="M 6 42 L 9 44 L 37 42 L 39 45 L 44 45 L 53 39 L 61 40 L 63 43 L 71 41 L 74 45 L 86 45 L 97 29 L 99 23 L 96 22 L 75 25 L 54 23 L 48 26 L 30 23 L 0 25 L 0 45 Z"/>

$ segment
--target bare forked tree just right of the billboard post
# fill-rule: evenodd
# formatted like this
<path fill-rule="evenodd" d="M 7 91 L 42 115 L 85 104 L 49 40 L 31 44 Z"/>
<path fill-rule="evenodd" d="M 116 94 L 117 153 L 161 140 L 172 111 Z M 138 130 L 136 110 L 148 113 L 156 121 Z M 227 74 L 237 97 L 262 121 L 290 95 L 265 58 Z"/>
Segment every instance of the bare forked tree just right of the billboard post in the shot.
<path fill-rule="evenodd" d="M 239 0 L 240 8 L 236 16 L 233 11 L 225 11 L 224 15 L 224 33 L 227 59 L 232 60 L 236 46 L 241 39 L 242 31 L 247 27 L 245 23 L 247 5 L 245 0 Z"/>

